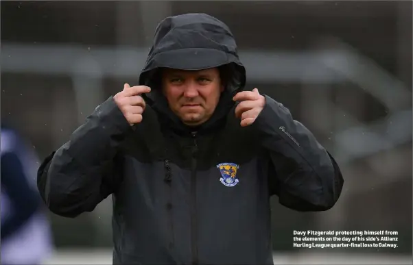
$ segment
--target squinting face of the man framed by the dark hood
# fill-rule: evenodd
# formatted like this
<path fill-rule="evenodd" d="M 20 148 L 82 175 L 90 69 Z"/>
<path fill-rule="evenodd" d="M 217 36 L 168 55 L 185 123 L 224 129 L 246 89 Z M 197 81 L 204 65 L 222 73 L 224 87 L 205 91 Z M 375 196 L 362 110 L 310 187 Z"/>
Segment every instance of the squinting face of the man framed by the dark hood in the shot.
<path fill-rule="evenodd" d="M 162 83 L 169 108 L 189 126 L 200 125 L 211 118 L 224 90 L 217 68 L 201 71 L 166 68 Z"/>

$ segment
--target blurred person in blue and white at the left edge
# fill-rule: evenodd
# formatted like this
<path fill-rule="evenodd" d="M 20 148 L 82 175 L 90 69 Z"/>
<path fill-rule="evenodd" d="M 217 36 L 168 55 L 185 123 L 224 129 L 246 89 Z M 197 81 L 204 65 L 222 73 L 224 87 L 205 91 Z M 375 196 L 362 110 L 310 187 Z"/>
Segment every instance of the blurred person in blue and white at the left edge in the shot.
<path fill-rule="evenodd" d="M 43 264 L 53 245 L 36 188 L 38 157 L 1 123 L 1 264 Z"/>

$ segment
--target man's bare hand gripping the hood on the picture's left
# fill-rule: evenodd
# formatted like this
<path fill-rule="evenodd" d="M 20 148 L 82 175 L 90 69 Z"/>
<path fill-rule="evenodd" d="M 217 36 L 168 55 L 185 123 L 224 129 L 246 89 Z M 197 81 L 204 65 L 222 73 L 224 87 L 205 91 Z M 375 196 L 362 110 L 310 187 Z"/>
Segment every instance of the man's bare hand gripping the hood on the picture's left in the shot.
<path fill-rule="evenodd" d="M 145 101 L 141 97 L 142 93 L 149 93 L 148 86 L 132 86 L 125 84 L 123 90 L 113 97 L 119 110 L 123 113 L 130 125 L 141 123 L 142 113 L 145 110 Z"/>

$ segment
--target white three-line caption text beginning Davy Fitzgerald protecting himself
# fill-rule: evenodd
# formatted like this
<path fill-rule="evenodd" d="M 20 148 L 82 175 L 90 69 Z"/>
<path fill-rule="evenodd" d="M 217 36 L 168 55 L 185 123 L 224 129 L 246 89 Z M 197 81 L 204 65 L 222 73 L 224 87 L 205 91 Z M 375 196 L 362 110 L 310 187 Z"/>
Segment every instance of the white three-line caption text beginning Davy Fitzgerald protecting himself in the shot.
<path fill-rule="evenodd" d="M 397 248 L 397 231 L 293 231 L 294 248 Z"/>

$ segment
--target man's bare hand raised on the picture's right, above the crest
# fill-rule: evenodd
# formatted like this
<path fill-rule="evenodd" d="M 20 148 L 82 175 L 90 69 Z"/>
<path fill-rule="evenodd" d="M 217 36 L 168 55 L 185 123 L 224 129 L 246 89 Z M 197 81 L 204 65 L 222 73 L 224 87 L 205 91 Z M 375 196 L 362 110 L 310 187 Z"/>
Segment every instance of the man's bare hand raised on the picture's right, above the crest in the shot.
<path fill-rule="evenodd" d="M 242 91 L 235 94 L 233 101 L 239 101 L 235 108 L 235 116 L 241 118 L 241 126 L 252 125 L 266 105 L 266 98 L 259 94 L 258 89 Z"/>

